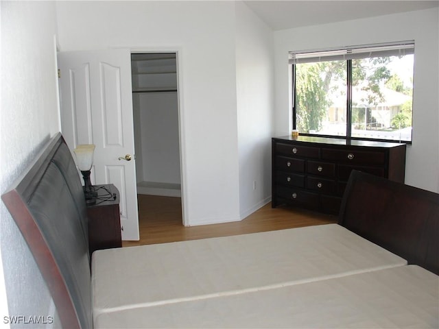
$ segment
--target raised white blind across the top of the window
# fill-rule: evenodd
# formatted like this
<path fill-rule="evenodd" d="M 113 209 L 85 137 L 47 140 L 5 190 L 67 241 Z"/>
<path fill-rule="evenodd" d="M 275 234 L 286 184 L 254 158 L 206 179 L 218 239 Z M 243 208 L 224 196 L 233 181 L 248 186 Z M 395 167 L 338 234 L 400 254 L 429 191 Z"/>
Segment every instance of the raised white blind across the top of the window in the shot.
<path fill-rule="evenodd" d="M 379 45 L 350 46 L 342 49 L 289 51 L 289 64 L 354 60 L 360 58 L 404 56 L 414 53 L 414 40 Z"/>

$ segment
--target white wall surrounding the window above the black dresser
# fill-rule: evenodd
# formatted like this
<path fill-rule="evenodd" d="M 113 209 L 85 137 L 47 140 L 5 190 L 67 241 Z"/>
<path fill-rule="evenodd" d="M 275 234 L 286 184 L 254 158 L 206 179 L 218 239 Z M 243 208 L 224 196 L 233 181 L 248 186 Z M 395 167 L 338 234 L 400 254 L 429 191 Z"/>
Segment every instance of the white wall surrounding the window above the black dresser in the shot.
<path fill-rule="evenodd" d="M 413 143 L 407 147 L 405 183 L 438 192 L 438 16 L 434 8 L 274 32 L 276 135 L 291 128 L 288 51 L 415 40 Z"/>

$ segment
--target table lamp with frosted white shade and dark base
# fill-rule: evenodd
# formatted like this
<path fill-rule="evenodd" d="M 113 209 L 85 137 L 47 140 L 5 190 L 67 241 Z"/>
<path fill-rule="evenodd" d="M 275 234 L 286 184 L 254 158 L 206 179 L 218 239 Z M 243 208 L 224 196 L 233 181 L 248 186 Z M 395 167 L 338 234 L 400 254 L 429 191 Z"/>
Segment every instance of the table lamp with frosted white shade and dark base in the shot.
<path fill-rule="evenodd" d="M 78 145 L 73 152 L 76 156 L 76 164 L 82 173 L 84 178 L 84 196 L 87 206 L 96 204 L 97 193 L 90 181 L 90 171 L 93 164 L 93 152 L 95 151 L 95 145 L 93 144 L 81 144 Z"/>

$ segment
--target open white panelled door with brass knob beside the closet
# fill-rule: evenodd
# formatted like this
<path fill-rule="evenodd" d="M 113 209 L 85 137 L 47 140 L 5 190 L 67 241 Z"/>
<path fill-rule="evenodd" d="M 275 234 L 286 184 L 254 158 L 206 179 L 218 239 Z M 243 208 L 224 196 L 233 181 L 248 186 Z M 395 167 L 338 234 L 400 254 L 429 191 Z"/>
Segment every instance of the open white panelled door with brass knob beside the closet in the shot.
<path fill-rule="evenodd" d="M 129 49 L 58 53 L 62 135 L 95 144 L 93 184 L 120 193 L 123 240 L 139 240 Z"/>

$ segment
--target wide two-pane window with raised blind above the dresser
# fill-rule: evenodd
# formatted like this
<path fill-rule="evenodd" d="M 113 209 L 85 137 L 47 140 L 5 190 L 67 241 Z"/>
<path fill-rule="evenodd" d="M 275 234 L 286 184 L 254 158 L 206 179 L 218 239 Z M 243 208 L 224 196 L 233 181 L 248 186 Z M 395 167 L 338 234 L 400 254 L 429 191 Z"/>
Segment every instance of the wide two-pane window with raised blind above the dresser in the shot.
<path fill-rule="evenodd" d="M 300 134 L 412 141 L 414 42 L 290 52 Z"/>

